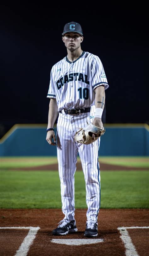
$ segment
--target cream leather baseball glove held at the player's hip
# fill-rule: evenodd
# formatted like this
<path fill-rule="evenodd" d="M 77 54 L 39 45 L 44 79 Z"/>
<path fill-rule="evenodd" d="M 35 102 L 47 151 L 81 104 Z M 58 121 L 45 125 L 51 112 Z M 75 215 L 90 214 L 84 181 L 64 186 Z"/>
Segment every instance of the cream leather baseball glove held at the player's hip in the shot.
<path fill-rule="evenodd" d="M 96 141 L 101 135 L 105 133 L 106 129 L 99 128 L 92 123 L 87 122 L 87 126 L 85 128 L 79 128 L 79 130 L 75 133 L 74 141 L 81 144 L 91 144 Z M 95 134 L 95 138 L 93 139 L 92 134 Z"/>

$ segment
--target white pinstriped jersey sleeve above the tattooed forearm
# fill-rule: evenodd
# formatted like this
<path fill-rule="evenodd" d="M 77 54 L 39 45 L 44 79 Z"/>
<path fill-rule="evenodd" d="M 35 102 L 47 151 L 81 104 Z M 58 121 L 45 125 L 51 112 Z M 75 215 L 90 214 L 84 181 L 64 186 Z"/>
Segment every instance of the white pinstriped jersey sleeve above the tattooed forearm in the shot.
<path fill-rule="evenodd" d="M 109 87 L 102 62 L 98 56 L 95 56 L 92 60 L 91 83 L 93 90 L 100 85 L 104 85 L 105 90 Z"/>

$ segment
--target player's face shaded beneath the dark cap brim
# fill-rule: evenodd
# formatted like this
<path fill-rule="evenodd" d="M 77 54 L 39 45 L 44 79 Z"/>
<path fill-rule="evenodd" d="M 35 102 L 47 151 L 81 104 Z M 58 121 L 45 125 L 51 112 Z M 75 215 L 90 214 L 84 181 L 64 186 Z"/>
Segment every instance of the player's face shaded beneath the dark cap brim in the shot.
<path fill-rule="evenodd" d="M 73 52 L 80 47 L 80 44 L 83 41 L 83 36 L 75 32 L 68 32 L 64 34 L 62 40 L 65 43 L 65 46 Z"/>

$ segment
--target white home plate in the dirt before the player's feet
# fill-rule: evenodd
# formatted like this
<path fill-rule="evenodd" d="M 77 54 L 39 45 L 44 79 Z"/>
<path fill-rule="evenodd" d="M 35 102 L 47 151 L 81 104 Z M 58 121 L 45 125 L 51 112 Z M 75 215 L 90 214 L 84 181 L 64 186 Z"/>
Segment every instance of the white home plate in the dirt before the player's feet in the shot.
<path fill-rule="evenodd" d="M 66 245 L 88 245 L 103 242 L 103 239 L 52 239 L 52 243 L 66 244 Z"/>

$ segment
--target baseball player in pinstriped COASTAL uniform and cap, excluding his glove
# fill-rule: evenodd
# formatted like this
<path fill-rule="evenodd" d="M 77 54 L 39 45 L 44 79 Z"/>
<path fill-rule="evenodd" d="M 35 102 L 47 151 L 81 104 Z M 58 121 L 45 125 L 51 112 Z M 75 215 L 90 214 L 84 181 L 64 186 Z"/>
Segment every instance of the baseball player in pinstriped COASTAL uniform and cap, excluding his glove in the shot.
<path fill-rule="evenodd" d="M 103 128 L 101 118 L 105 105 L 105 90 L 109 85 L 99 57 L 81 49 L 84 37 L 80 24 L 65 24 L 62 35 L 67 56 L 51 69 L 47 94 L 50 103 L 46 140 L 50 145 L 57 146 L 62 211 L 65 216 L 52 234 L 66 235 L 78 230 L 74 218 L 74 173 L 79 153 L 86 182 L 88 208 L 84 235 L 95 237 L 98 234 L 97 216 L 101 201 L 98 162 L 100 137 L 85 145 L 74 141 L 74 136 L 77 130 L 86 127 L 87 123 Z M 53 126 L 57 117 L 56 140 Z M 94 133 L 92 137 L 95 138 Z"/>

